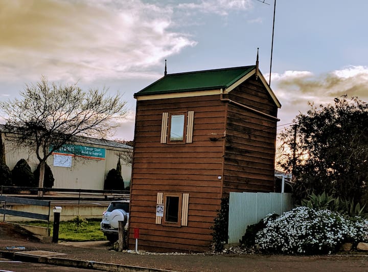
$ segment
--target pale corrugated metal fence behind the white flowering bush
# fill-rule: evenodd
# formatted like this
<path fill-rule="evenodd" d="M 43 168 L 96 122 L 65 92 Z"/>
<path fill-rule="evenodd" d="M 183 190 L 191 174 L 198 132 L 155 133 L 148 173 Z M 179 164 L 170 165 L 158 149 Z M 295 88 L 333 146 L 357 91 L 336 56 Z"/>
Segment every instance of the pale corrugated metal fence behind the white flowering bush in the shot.
<path fill-rule="evenodd" d="M 239 243 L 248 225 L 258 223 L 269 213 L 282 214 L 292 209 L 289 193 L 230 193 L 229 244 Z"/>

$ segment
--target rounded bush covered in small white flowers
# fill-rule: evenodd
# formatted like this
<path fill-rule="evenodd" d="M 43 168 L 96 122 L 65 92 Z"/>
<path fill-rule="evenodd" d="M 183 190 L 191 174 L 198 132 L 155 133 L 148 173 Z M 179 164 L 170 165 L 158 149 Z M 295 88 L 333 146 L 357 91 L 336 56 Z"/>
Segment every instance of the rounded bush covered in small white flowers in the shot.
<path fill-rule="evenodd" d="M 272 219 L 256 235 L 256 243 L 266 253 L 331 254 L 344 242 L 367 240 L 368 221 L 348 219 L 339 213 L 298 207 Z"/>

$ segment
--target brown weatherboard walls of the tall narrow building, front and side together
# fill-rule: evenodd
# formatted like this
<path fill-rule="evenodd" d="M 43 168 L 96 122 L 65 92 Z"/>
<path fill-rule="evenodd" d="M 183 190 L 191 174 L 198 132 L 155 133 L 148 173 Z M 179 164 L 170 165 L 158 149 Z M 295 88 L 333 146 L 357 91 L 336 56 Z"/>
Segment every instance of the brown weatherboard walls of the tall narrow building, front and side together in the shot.
<path fill-rule="evenodd" d="M 157 99 L 136 97 L 129 244 L 135 244 L 138 228 L 143 250 L 207 251 L 222 197 L 231 191 L 273 191 L 280 104 L 255 75 L 229 93 L 214 89 L 200 96 L 173 97 L 175 92 L 165 90 L 170 96 L 163 98 L 154 84 L 147 88 Z M 193 118 L 185 130 L 193 132 L 191 141 L 168 141 L 168 118 L 175 113 Z M 187 205 L 181 225 L 163 224 L 156 205 L 165 202 L 165 194 L 178 193 Z"/>

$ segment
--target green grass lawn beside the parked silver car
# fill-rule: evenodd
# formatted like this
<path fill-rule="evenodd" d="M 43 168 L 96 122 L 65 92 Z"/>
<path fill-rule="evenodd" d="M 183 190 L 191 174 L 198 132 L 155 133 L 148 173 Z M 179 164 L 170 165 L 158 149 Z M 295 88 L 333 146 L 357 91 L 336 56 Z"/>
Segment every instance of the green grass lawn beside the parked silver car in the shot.
<path fill-rule="evenodd" d="M 100 231 L 101 219 L 86 219 L 87 222 L 78 224 L 78 221 L 61 221 L 59 225 L 59 241 L 103 241 L 106 237 Z M 79 221 L 81 222 L 81 221 Z M 48 223 L 45 221 L 27 221 L 19 222 L 25 225 L 44 226 L 47 228 Z M 53 222 L 50 222 L 50 234 L 53 234 Z"/>

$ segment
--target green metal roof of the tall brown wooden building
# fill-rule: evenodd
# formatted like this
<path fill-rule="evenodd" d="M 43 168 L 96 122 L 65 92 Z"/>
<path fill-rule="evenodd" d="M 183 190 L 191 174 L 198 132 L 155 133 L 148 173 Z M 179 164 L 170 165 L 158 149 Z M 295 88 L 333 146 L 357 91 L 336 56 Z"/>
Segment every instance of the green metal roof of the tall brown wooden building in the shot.
<path fill-rule="evenodd" d="M 205 70 L 188 73 L 167 74 L 134 96 L 191 92 L 227 88 L 254 70 L 256 65 Z"/>

